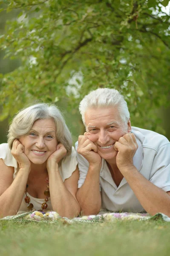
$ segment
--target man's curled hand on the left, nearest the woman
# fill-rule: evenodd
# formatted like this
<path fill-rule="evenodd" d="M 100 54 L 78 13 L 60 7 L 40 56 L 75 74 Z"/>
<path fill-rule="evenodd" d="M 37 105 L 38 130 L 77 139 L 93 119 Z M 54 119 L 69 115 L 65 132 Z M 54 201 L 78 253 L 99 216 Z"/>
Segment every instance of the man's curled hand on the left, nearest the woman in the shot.
<path fill-rule="evenodd" d="M 97 153 L 98 148 L 88 139 L 86 134 L 87 133 L 85 132 L 84 135 L 78 137 L 77 151 L 89 162 L 89 165 L 100 166 L 101 168 L 101 157 Z"/>

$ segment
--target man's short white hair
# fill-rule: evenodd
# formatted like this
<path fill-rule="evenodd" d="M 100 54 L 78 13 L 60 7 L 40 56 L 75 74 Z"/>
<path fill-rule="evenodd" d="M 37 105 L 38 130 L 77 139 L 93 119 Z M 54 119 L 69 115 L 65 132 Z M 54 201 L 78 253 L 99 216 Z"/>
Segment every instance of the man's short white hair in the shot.
<path fill-rule="evenodd" d="M 87 94 L 80 102 L 79 111 L 82 116 L 83 123 L 85 125 L 85 113 L 89 108 L 101 108 L 101 107 L 117 107 L 118 113 L 124 124 L 130 119 L 130 113 L 127 108 L 127 102 L 124 97 L 115 89 L 99 88 L 93 90 Z M 85 125 L 86 126 L 86 125 Z"/>

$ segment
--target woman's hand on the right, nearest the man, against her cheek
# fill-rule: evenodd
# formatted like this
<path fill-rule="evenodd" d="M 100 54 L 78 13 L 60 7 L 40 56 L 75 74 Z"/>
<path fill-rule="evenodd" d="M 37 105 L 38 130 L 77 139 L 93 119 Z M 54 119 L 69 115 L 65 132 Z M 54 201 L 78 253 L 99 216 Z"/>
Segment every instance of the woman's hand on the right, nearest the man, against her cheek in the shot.
<path fill-rule="evenodd" d="M 59 143 L 57 145 L 57 150 L 49 156 L 47 160 L 47 170 L 51 169 L 52 167 L 56 166 L 56 163 L 58 164 L 60 160 L 65 157 L 67 151 L 63 144 Z"/>

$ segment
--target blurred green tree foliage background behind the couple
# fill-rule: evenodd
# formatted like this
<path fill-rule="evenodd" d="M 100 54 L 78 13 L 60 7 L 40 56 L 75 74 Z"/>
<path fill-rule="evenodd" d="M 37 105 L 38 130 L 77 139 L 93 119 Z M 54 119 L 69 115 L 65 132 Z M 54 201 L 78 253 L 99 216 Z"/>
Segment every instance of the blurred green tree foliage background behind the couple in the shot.
<path fill-rule="evenodd" d="M 132 125 L 170 139 L 169 0 L 0 1 L 0 143 L 20 108 L 52 102 L 75 141 L 80 100 L 119 90 Z"/>

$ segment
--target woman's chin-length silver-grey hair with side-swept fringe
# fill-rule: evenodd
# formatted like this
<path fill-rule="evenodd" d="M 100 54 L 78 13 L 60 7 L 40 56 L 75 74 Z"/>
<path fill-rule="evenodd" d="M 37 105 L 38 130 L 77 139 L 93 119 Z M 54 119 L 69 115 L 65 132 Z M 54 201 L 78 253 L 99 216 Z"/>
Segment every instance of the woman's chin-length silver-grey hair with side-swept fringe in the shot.
<path fill-rule="evenodd" d="M 19 111 L 9 126 L 8 143 L 12 149 L 14 139 L 19 139 L 28 134 L 32 125 L 38 119 L 52 118 L 56 127 L 56 139 L 62 143 L 67 154 L 72 151 L 72 136 L 59 109 L 52 104 L 39 103 Z"/>

